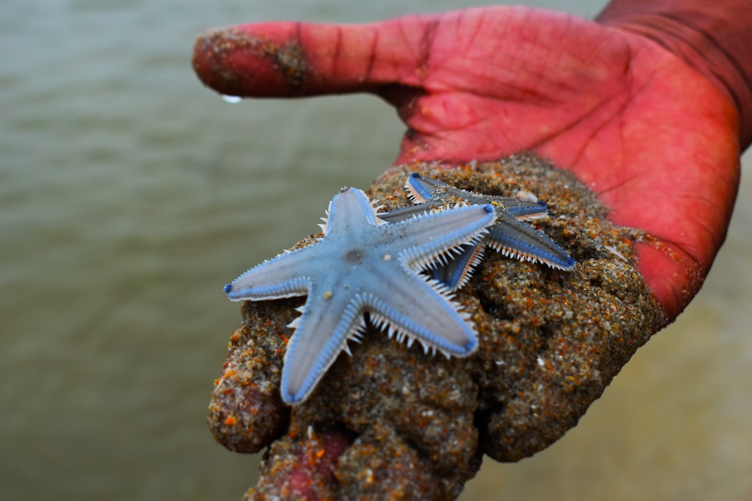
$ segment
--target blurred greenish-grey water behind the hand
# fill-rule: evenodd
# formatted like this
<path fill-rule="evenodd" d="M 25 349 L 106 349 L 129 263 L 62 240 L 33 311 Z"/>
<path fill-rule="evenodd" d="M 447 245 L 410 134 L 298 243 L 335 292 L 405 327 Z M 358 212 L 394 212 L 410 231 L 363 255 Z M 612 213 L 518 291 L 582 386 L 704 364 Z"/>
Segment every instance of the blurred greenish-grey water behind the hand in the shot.
<path fill-rule="evenodd" d="M 463 5 L 0 3 L 0 499 L 239 499 L 257 458 L 204 422 L 239 319 L 222 285 L 316 231 L 299 215 L 323 215 L 333 188 L 368 186 L 402 125 L 368 96 L 227 104 L 193 76 L 193 40 Z M 463 499 L 752 497 L 750 193 L 687 313 L 580 426 L 487 461 Z"/>

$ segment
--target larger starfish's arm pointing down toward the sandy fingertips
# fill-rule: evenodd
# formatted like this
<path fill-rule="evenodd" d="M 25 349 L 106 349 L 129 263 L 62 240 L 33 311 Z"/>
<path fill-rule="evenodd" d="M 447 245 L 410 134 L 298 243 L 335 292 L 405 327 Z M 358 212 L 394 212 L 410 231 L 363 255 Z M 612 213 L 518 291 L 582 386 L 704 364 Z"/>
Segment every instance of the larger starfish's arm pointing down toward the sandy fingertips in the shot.
<path fill-rule="evenodd" d="M 282 370 L 282 400 L 295 405 L 305 400 L 337 355 L 363 322 L 363 303 L 347 291 L 323 291 L 314 287 L 303 306 Z"/>

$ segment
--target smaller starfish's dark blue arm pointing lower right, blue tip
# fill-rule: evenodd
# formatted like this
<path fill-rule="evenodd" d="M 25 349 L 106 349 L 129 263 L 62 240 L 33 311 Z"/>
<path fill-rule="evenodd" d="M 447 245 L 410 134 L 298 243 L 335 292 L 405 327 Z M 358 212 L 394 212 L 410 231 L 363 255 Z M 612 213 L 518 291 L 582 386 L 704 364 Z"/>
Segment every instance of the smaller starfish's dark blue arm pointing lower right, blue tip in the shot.
<path fill-rule="evenodd" d="M 486 243 L 512 258 L 541 261 L 550 267 L 572 270 L 577 262 L 542 231 L 513 217 L 496 219 Z"/>

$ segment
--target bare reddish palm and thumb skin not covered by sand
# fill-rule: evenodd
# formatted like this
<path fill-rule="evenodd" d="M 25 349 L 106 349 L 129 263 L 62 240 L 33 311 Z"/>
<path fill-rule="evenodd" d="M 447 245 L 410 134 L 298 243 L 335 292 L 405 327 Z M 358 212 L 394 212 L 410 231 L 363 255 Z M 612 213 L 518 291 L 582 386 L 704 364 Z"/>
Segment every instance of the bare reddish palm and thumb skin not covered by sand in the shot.
<path fill-rule="evenodd" d="M 280 71 L 280 47 L 299 47 L 304 64 Z M 265 23 L 199 39 L 193 63 L 223 94 L 380 95 L 408 125 L 396 163 L 550 158 L 598 194 L 611 221 L 654 237 L 638 243 L 639 270 L 670 320 L 726 237 L 738 110 L 674 53 L 615 26 L 520 7 Z"/>

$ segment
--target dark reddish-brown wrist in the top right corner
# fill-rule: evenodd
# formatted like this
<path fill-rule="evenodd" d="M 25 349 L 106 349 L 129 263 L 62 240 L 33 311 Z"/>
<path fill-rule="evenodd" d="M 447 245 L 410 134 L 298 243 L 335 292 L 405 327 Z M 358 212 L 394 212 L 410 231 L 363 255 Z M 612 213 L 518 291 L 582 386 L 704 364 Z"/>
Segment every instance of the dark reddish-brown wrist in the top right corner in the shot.
<path fill-rule="evenodd" d="M 752 142 L 752 2 L 718 2 L 614 0 L 596 21 L 654 41 L 710 80 L 738 111 L 745 149 Z"/>

